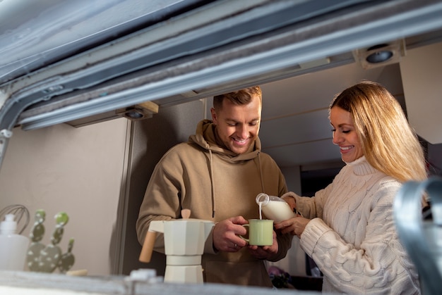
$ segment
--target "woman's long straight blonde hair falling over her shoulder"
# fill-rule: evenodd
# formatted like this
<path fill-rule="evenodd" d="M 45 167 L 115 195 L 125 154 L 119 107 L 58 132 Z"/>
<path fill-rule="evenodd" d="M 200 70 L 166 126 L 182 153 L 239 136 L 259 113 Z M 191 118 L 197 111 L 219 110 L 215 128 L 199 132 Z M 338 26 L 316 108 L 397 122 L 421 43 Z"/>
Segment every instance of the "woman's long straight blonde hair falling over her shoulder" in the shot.
<path fill-rule="evenodd" d="M 331 108 L 350 112 L 366 160 L 400 182 L 426 179 L 426 161 L 417 134 L 400 103 L 381 84 L 362 81 L 335 96 Z"/>

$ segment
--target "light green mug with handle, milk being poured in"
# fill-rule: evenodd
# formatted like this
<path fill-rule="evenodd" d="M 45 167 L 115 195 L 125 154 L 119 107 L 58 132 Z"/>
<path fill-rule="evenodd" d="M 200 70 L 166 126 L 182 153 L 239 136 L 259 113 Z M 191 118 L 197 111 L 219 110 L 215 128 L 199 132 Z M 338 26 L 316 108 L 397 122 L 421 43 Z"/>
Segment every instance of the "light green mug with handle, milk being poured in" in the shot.
<path fill-rule="evenodd" d="M 250 219 L 249 224 L 243 225 L 249 227 L 249 239 L 241 237 L 253 246 L 272 246 L 273 244 L 273 220 L 270 219 Z"/>

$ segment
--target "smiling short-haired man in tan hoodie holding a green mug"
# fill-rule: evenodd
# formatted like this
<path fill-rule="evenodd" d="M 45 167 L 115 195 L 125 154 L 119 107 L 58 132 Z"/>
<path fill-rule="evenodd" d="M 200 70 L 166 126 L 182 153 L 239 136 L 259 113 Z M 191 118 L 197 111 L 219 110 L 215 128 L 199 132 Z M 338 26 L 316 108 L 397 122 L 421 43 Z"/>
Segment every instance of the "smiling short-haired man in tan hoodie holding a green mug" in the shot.
<path fill-rule="evenodd" d="M 264 261 L 284 258 L 292 244 L 288 234 L 275 232 L 272 246 L 249 246 L 239 237 L 246 234 L 241 225 L 259 218 L 259 193 L 287 192 L 275 161 L 261 152 L 261 108 L 258 86 L 215 96 L 213 120 L 202 120 L 189 142 L 165 153 L 141 204 L 141 244 L 151 220 L 181 218 L 182 209 L 190 209 L 191 218 L 215 222 L 202 257 L 205 282 L 272 287 Z M 164 253 L 162 235 L 155 251 Z"/>

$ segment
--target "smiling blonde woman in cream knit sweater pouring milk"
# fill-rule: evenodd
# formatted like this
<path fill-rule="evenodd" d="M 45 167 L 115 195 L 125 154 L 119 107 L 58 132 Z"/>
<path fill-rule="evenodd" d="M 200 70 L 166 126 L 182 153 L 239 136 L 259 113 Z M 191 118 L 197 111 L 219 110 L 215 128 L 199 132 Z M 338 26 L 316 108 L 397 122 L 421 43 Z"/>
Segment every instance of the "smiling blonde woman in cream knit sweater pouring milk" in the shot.
<path fill-rule="evenodd" d="M 333 143 L 347 165 L 311 198 L 284 194 L 304 217 L 275 228 L 300 238 L 323 272 L 323 292 L 419 294 L 417 270 L 393 220 L 402 182 L 426 178 L 417 136 L 398 101 L 374 82 L 345 89 L 329 114 Z"/>

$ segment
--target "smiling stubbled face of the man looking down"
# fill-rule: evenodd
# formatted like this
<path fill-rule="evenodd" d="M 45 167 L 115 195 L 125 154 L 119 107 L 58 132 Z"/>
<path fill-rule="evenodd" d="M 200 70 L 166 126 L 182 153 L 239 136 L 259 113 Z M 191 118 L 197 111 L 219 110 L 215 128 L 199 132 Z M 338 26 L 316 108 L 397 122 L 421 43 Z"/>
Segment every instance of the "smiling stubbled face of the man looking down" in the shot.
<path fill-rule="evenodd" d="M 254 96 L 250 103 L 236 105 L 224 99 L 222 109 L 210 109 L 217 134 L 227 149 L 234 153 L 245 153 L 258 137 L 261 123 L 261 101 Z"/>

